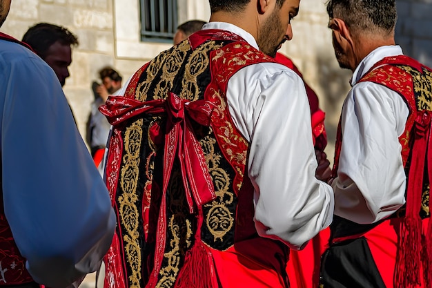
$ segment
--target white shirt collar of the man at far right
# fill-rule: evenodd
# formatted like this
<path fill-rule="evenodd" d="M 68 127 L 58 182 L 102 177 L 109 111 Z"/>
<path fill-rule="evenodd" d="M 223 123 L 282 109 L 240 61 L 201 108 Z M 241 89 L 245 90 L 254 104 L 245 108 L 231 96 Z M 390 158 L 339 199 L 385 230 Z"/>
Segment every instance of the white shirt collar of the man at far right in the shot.
<path fill-rule="evenodd" d="M 369 53 L 360 64 L 355 68 L 353 77 L 351 77 L 351 86 L 354 86 L 364 74 L 366 74 L 376 63 L 385 57 L 404 55 L 402 48 L 398 45 L 381 46 Z"/>

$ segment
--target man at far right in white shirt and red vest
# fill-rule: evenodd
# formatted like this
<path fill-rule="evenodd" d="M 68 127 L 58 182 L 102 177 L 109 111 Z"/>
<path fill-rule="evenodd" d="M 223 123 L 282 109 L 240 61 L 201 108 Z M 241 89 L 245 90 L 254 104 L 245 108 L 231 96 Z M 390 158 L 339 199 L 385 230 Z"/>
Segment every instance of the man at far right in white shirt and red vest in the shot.
<path fill-rule="evenodd" d="M 394 0 L 327 5 L 337 61 L 353 76 L 337 132 L 322 284 L 431 287 L 432 71 L 395 45 Z"/>

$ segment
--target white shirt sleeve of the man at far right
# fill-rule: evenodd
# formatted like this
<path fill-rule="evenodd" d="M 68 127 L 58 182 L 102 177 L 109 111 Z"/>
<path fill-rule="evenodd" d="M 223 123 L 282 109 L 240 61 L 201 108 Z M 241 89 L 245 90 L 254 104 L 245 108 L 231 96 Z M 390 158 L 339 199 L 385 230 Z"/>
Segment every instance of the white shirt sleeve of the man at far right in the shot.
<path fill-rule="evenodd" d="M 360 224 L 388 217 L 405 203 L 402 135 L 409 109 L 385 86 L 361 82 L 342 109 L 342 148 L 335 215 Z"/>

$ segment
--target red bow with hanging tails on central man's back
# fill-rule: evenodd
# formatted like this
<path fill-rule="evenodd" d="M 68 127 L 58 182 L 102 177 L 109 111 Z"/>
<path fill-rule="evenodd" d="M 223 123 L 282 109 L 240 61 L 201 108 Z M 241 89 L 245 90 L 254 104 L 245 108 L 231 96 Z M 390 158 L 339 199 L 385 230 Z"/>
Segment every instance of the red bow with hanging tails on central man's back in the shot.
<path fill-rule="evenodd" d="M 195 204 L 201 206 L 215 200 L 213 180 L 208 172 L 204 152 L 199 144 L 190 119 L 198 124 L 209 126 L 214 104 L 206 100 L 189 102 L 174 93 L 168 93 L 166 99 L 141 102 L 121 96 L 110 96 L 104 106 L 99 108 L 113 126 L 141 113 L 157 115 L 168 114 L 164 146 L 164 183 L 165 195 L 173 169 L 175 155 L 181 166 L 184 190 L 190 213 L 195 211 Z"/>

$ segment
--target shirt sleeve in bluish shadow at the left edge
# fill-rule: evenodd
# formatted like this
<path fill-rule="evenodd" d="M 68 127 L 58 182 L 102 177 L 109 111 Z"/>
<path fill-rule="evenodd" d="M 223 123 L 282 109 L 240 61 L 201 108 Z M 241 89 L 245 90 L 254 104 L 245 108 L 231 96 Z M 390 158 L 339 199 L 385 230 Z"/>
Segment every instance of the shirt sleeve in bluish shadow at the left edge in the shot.
<path fill-rule="evenodd" d="M 3 203 L 31 276 L 62 288 L 99 267 L 115 213 L 57 77 L 30 54 L 0 55 Z"/>

